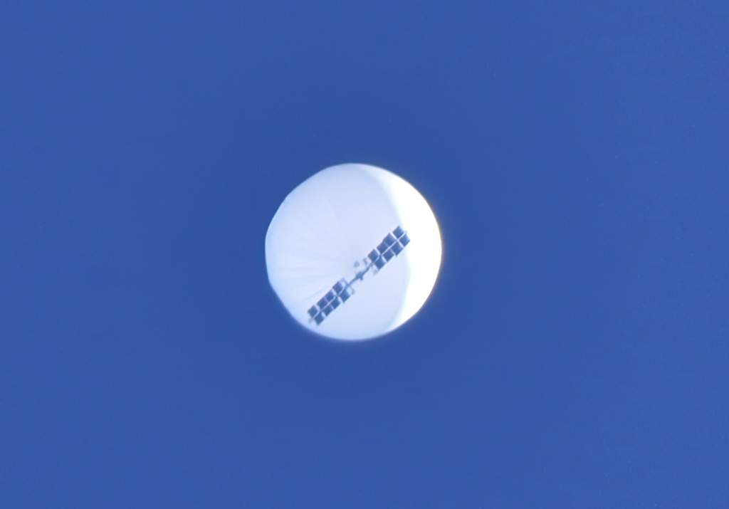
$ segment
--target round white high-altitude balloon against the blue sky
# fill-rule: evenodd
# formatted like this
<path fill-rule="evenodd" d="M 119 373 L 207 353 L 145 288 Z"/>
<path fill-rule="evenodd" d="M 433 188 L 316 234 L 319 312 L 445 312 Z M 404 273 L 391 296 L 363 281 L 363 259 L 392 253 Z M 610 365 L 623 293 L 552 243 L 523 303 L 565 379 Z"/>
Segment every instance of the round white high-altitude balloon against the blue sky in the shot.
<path fill-rule="evenodd" d="M 378 270 L 367 255 L 398 226 L 410 242 Z M 399 176 L 364 164 L 331 166 L 298 185 L 278 207 L 265 244 L 268 279 L 286 310 L 309 330 L 343 340 L 375 338 L 416 314 L 442 251 L 425 198 Z M 316 304 L 338 281 L 354 293 L 322 313 Z"/>

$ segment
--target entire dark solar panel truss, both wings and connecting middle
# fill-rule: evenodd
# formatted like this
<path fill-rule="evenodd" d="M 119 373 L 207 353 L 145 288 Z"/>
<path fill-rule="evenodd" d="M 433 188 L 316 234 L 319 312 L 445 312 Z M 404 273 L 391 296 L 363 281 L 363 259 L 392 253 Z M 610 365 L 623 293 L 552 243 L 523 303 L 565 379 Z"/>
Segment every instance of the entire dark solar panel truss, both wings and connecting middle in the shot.
<path fill-rule="evenodd" d="M 346 301 L 354 295 L 352 283 L 354 283 L 356 279 L 362 280 L 362 276 L 370 270 L 370 267 L 375 266 L 378 270 L 383 268 L 386 263 L 400 254 L 402 249 L 405 249 L 405 246 L 409 243 L 410 238 L 408 237 L 408 233 L 405 233 L 405 230 L 399 226 L 392 230 L 392 233 L 388 233 L 387 236 L 383 238 L 383 241 L 377 246 L 377 249 L 373 249 L 370 251 L 370 254 L 367 254 L 367 257 L 370 259 L 370 263 L 364 271 L 357 273 L 357 276 L 351 282 L 347 282 L 346 279 L 340 279 L 337 281 L 334 286 L 332 286 L 332 289 L 324 295 L 324 297 L 319 299 L 316 304 L 309 308 L 308 314 L 311 319 L 316 322 L 316 325 L 320 325 L 321 322 L 324 322 L 324 319 L 338 308 L 340 304 L 346 303 Z"/>

